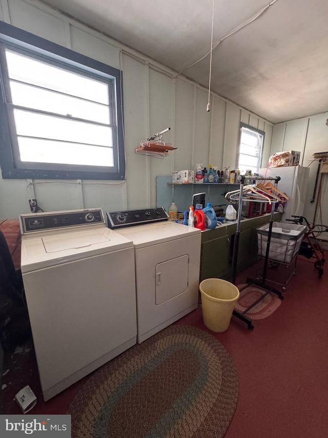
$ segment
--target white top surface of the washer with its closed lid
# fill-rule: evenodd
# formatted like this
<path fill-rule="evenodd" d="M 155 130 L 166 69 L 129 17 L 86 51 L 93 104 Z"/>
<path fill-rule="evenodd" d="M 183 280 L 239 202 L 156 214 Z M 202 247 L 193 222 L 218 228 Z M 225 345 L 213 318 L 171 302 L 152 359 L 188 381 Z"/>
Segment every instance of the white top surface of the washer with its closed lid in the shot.
<path fill-rule="evenodd" d="M 106 226 L 29 237 L 22 239 L 21 269 L 26 273 L 126 248 L 133 248 L 133 242 Z"/>

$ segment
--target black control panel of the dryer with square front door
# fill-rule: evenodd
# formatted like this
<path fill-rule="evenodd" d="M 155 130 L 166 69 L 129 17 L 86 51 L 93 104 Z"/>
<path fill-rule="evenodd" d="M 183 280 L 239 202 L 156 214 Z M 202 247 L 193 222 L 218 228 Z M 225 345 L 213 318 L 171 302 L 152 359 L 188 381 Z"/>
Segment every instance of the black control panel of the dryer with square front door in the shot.
<path fill-rule="evenodd" d="M 163 207 L 107 212 L 106 215 L 108 227 L 112 229 L 168 220 L 168 214 Z"/>

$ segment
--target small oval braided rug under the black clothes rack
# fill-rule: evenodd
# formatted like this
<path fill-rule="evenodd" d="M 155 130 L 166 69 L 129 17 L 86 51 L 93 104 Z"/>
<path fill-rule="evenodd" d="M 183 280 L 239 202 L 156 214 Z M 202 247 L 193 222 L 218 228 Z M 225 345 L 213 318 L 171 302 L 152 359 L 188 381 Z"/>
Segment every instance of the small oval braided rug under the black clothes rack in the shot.
<path fill-rule="evenodd" d="M 235 304 L 235 310 L 240 313 L 244 312 L 251 306 L 251 304 L 253 304 L 253 302 L 268 292 L 267 290 L 252 284 L 249 287 L 246 287 L 247 284 L 248 283 L 237 285 L 240 295 L 237 303 Z M 278 295 L 270 292 L 254 307 L 252 307 L 252 309 L 245 313 L 245 316 L 248 316 L 252 320 L 268 318 L 268 316 L 272 315 L 273 312 L 278 309 L 280 304 L 281 299 L 278 297 Z"/>

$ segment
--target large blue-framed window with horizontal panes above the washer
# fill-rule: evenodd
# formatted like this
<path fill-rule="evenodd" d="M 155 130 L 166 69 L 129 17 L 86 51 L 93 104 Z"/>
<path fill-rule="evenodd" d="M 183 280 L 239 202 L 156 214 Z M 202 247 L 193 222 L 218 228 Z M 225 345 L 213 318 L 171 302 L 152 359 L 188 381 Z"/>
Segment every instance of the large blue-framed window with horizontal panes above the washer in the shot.
<path fill-rule="evenodd" d="M 121 72 L 12 26 L 0 31 L 3 177 L 124 179 Z"/>

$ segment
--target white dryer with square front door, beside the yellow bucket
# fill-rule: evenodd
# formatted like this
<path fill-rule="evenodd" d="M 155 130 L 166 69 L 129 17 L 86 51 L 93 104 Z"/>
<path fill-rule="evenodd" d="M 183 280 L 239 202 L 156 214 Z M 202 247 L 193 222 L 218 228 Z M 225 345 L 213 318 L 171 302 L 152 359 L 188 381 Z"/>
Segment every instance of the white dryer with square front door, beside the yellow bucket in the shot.
<path fill-rule="evenodd" d="M 162 207 L 107 218 L 109 227 L 134 243 L 140 344 L 197 308 L 200 230 L 168 221 Z"/>

